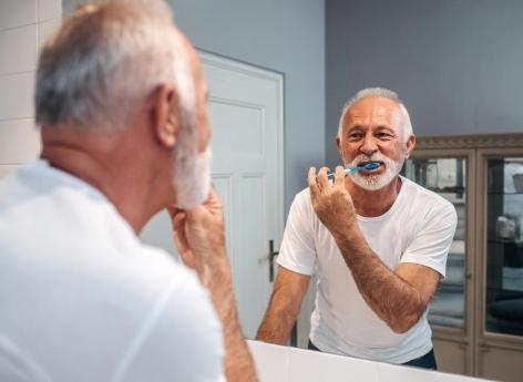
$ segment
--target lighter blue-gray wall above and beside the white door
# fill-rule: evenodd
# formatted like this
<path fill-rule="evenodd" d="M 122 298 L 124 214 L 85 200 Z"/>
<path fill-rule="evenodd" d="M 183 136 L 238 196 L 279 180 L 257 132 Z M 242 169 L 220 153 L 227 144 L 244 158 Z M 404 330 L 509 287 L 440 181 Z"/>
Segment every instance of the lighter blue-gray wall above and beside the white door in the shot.
<path fill-rule="evenodd" d="M 170 0 L 199 49 L 285 75 L 285 216 L 325 162 L 325 1 Z M 71 9 L 78 0 L 63 0 Z"/>

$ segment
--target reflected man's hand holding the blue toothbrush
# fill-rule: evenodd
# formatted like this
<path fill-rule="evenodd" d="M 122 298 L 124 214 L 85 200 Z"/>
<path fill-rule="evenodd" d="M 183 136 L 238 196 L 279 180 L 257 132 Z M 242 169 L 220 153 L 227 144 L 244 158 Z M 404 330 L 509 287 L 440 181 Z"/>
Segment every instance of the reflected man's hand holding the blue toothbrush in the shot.
<path fill-rule="evenodd" d="M 327 179 L 327 169 L 322 167 L 316 175 L 316 168 L 309 168 L 310 199 L 320 221 L 336 237 L 353 227 L 356 211 L 352 198 L 345 188 L 343 167 L 336 167 L 332 185 Z"/>

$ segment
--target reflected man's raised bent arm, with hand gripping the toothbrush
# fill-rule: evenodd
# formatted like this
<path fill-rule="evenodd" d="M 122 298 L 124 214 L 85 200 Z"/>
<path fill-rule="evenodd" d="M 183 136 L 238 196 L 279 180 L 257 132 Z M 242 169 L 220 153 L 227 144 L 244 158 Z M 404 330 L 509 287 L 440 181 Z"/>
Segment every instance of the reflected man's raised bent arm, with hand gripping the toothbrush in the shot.
<path fill-rule="evenodd" d="M 372 251 L 356 220 L 352 199 L 337 167 L 332 186 L 325 172 L 309 169 L 309 188 L 318 218 L 329 229 L 343 260 L 369 307 L 394 332 L 408 331 L 423 314 L 440 275 L 417 264 L 401 264 L 392 271 Z"/>

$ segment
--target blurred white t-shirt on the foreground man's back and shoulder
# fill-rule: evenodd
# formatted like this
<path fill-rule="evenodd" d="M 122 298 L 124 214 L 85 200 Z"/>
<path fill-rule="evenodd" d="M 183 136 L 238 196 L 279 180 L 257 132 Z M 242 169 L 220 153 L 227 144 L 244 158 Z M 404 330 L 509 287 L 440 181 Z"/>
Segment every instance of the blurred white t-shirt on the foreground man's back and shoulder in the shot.
<path fill-rule="evenodd" d="M 44 161 L 0 182 L 0 301 L 2 381 L 224 380 L 196 275 Z"/>

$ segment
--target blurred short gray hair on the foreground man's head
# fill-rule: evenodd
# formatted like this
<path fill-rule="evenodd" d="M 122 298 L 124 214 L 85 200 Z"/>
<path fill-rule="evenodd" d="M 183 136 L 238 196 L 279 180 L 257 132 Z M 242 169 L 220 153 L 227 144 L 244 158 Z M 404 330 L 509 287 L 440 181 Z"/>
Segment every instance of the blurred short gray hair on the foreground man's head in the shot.
<path fill-rule="evenodd" d="M 37 123 L 123 128 L 160 84 L 170 83 L 183 122 L 193 126 L 193 71 L 172 19 L 162 0 L 106 0 L 78 8 L 40 54 Z"/>

